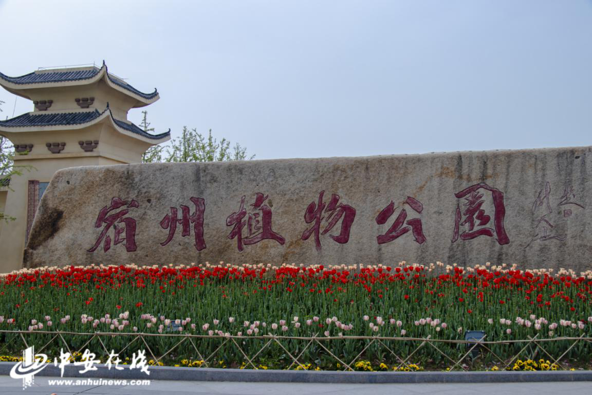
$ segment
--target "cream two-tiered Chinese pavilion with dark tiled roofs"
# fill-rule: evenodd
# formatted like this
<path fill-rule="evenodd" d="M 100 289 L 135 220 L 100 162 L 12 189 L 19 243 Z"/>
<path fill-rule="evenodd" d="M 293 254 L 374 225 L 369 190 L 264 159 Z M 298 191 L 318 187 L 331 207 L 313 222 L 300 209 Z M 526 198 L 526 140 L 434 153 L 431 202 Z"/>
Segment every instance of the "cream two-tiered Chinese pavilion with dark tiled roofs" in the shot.
<path fill-rule="evenodd" d="M 132 108 L 159 99 L 107 70 L 107 65 L 38 70 L 19 77 L 0 73 L 0 85 L 30 99 L 30 113 L 0 121 L 0 134 L 14 144 L 23 174 L 0 185 L 0 272 L 21 268 L 37 204 L 53 174 L 73 166 L 139 163 L 146 150 L 170 139 L 127 120 Z M 28 170 L 27 170 L 28 169 Z"/>

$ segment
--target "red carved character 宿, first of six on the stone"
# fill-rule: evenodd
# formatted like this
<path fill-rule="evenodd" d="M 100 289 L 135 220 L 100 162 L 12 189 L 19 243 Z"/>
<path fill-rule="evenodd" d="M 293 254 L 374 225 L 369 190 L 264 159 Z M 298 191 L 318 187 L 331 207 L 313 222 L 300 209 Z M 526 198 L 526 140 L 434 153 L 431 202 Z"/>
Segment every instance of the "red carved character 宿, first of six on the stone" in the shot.
<path fill-rule="evenodd" d="M 125 207 L 125 208 L 123 208 Z M 135 200 L 121 200 L 118 197 L 111 199 L 111 205 L 106 205 L 99 211 L 99 216 L 95 221 L 95 228 L 101 229 L 104 225 L 101 235 L 96 240 L 95 245 L 87 250 L 87 252 L 95 252 L 101 242 L 103 243 L 103 251 L 107 252 L 111 248 L 111 236 L 107 235 L 109 230 L 113 229 L 115 234 L 113 238 L 113 245 L 125 243 L 126 251 L 136 251 L 136 220 L 133 218 L 126 218 L 131 208 L 137 208 L 139 204 Z M 120 210 L 120 208 L 123 208 Z M 120 210 L 115 213 L 112 211 Z M 125 237 L 121 237 L 123 233 Z"/>

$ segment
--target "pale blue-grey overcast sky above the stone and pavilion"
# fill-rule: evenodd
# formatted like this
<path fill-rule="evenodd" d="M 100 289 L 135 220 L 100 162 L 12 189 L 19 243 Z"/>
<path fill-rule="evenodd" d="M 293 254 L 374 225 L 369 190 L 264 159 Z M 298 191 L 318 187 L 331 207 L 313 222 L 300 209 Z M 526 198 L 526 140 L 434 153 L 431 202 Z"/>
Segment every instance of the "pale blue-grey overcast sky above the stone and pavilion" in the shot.
<path fill-rule="evenodd" d="M 0 36 L 5 74 L 104 59 L 157 132 L 257 159 L 592 144 L 590 0 L 0 0 Z"/>

